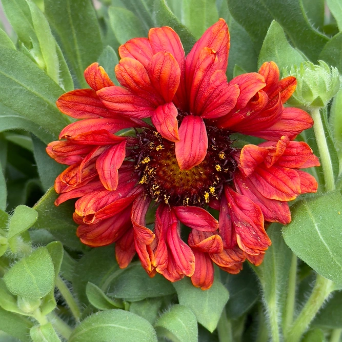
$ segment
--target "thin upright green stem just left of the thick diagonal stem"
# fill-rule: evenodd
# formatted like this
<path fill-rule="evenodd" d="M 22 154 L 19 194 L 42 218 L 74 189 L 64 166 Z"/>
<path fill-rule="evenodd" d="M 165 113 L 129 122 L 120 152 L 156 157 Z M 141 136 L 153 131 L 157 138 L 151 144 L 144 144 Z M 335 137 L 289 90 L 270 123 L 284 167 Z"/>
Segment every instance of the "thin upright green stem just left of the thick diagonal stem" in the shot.
<path fill-rule="evenodd" d="M 287 299 L 285 306 L 285 317 L 284 317 L 284 334 L 292 325 L 295 297 L 296 297 L 296 276 L 297 276 L 297 256 L 292 253 L 291 267 L 289 273 L 289 286 L 287 290 Z"/>

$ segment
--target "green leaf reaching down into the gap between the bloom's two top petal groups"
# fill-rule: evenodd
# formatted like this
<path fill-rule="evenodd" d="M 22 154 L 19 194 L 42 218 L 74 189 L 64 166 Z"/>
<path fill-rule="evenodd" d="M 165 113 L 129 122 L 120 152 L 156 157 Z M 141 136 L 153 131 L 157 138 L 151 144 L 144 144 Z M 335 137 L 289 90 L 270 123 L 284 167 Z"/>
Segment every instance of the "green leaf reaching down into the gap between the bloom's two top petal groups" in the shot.
<path fill-rule="evenodd" d="M 196 40 L 189 29 L 180 23 L 177 17 L 171 12 L 165 0 L 155 1 L 154 17 L 157 26 L 170 26 L 178 33 L 185 53 L 189 53 Z"/>

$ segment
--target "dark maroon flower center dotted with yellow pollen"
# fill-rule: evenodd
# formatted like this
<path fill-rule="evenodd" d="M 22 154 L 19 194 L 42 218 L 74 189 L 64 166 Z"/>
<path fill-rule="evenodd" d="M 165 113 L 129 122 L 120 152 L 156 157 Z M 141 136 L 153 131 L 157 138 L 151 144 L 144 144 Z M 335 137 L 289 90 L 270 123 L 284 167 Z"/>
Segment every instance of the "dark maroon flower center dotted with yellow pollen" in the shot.
<path fill-rule="evenodd" d="M 204 206 L 210 199 L 219 198 L 224 184 L 232 180 L 236 149 L 227 130 L 207 126 L 207 133 L 207 155 L 190 170 L 179 169 L 174 143 L 155 131 L 137 133 L 140 153 L 135 168 L 147 196 L 174 206 Z"/>

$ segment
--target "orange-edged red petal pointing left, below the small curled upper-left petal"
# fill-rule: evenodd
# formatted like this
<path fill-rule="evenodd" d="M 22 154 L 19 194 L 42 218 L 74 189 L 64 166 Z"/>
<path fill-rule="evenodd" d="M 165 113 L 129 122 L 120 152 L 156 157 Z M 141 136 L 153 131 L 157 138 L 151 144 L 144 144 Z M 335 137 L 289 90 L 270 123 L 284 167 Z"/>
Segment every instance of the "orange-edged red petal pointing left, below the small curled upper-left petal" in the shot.
<path fill-rule="evenodd" d="M 57 99 L 56 105 L 62 113 L 76 119 L 108 117 L 110 115 L 93 89 L 69 91 Z"/>

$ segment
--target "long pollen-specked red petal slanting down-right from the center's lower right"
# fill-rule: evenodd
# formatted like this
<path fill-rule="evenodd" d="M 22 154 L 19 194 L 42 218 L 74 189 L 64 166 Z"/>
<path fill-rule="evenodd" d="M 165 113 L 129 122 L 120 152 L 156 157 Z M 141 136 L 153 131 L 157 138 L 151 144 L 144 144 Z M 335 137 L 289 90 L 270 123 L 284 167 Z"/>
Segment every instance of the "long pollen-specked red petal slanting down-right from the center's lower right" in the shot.
<path fill-rule="evenodd" d="M 238 246 L 248 254 L 256 255 L 271 245 L 264 228 L 261 209 L 247 196 L 225 188 L 231 207 L 232 223 L 236 231 Z"/>

